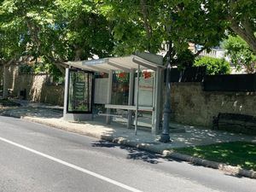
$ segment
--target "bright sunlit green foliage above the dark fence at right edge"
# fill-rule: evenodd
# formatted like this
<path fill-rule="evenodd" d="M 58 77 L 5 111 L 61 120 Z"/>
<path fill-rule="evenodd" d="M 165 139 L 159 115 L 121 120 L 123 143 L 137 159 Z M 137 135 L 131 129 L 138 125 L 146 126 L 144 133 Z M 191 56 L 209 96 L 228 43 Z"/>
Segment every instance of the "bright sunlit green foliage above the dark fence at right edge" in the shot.
<path fill-rule="evenodd" d="M 223 46 L 228 50 L 227 54 L 230 55 L 231 62 L 237 70 L 245 67 L 247 73 L 256 72 L 256 55 L 242 38 L 230 36 L 224 41 Z"/>

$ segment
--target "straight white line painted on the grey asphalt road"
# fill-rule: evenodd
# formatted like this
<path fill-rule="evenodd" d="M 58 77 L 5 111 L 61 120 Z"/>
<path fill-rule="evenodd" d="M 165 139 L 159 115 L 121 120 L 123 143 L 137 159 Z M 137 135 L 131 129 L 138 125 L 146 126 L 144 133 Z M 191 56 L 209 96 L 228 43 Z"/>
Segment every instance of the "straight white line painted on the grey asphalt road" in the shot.
<path fill-rule="evenodd" d="M 112 184 L 114 184 L 114 185 L 117 185 L 117 186 L 119 186 L 120 188 L 127 189 L 127 190 L 130 190 L 130 191 L 132 191 L 132 192 L 143 192 L 143 191 L 141 191 L 141 190 L 139 190 L 139 189 L 135 189 L 135 188 L 132 188 L 132 187 L 130 187 L 130 186 L 128 186 L 128 185 L 125 185 L 125 184 L 123 184 L 123 183 L 119 183 L 119 182 L 117 182 L 117 181 L 114 181 L 114 180 L 111 179 L 111 178 L 104 177 L 104 176 L 102 176 L 102 175 L 100 175 L 100 174 L 97 174 L 96 172 L 90 172 L 89 170 L 86 170 L 86 169 L 84 169 L 84 168 L 82 168 L 82 167 L 75 166 L 75 165 L 73 165 L 73 164 L 71 164 L 71 163 L 67 163 L 67 162 L 64 161 L 64 160 L 57 159 L 57 158 L 55 158 L 55 157 L 53 157 L 53 156 L 50 156 L 49 154 L 44 154 L 44 153 L 41 153 L 41 152 L 39 152 L 39 151 L 37 151 L 37 150 L 34 150 L 34 149 L 32 149 L 32 148 L 27 148 L 27 147 L 24 146 L 24 145 L 20 145 L 19 143 L 12 142 L 12 141 L 10 141 L 10 140 L 8 140 L 8 139 L 5 139 L 5 138 L 3 138 L 3 137 L 0 137 L 0 140 L 3 141 L 3 142 L 5 142 L 5 143 L 9 143 L 9 144 L 15 145 L 15 146 L 18 147 L 18 148 L 23 148 L 23 149 L 25 149 L 25 150 L 27 150 L 27 151 L 32 152 L 33 154 L 38 154 L 38 155 L 40 155 L 40 156 L 43 156 L 43 157 L 45 157 L 45 158 L 47 158 L 47 159 L 49 159 L 49 160 L 54 160 L 55 162 L 58 162 L 58 163 L 60 163 L 60 164 L 62 164 L 62 165 L 64 165 L 64 166 L 71 167 L 71 168 L 73 168 L 73 169 L 75 169 L 75 170 L 78 170 L 78 171 L 80 171 L 80 172 L 84 172 L 84 173 L 86 173 L 86 174 L 88 174 L 88 175 L 90 175 L 90 176 L 100 178 L 100 179 L 102 179 L 103 181 L 106 181 L 106 182 L 108 182 L 108 183 L 112 183 Z"/>

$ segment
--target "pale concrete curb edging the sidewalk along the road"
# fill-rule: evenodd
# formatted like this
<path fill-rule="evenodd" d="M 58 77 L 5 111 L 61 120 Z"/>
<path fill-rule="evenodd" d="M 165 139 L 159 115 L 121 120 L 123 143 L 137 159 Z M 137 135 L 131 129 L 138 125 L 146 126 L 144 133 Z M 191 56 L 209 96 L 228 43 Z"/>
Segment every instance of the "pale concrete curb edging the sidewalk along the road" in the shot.
<path fill-rule="evenodd" d="M 138 142 L 130 141 L 129 139 L 126 139 L 124 137 L 113 137 L 112 135 L 75 129 L 75 128 L 71 128 L 69 126 L 63 126 L 63 125 L 58 125 L 55 123 L 49 123 L 49 122 L 45 122 L 43 119 L 35 119 L 32 117 L 28 117 L 28 116 L 20 116 L 19 117 L 18 115 L 15 115 L 12 113 L 5 114 L 5 115 L 12 116 L 15 118 L 20 118 L 20 119 L 25 119 L 27 121 L 31 121 L 31 122 L 42 124 L 42 125 L 48 125 L 51 127 L 55 127 L 57 129 L 61 129 L 64 131 L 70 131 L 73 133 L 78 133 L 78 134 L 81 134 L 84 136 L 95 137 L 95 138 L 107 140 L 107 141 L 110 141 L 113 143 L 127 145 L 127 146 L 134 147 L 134 148 L 140 148 L 140 149 L 143 149 L 143 150 L 146 150 L 149 152 L 161 154 L 164 157 L 171 157 L 171 158 L 178 159 L 178 160 L 189 161 L 196 165 L 212 167 L 214 169 L 218 169 L 218 170 L 221 170 L 224 172 L 229 172 L 232 175 L 240 175 L 240 176 L 244 176 L 244 177 L 256 178 L 256 172 L 254 172 L 254 171 L 241 169 L 240 167 L 237 167 L 237 166 L 229 166 L 229 165 L 214 162 L 211 160 L 203 160 L 201 158 L 189 156 L 187 154 L 179 154 L 179 153 L 174 152 L 173 150 L 162 150 L 160 148 L 155 147 L 154 144 L 138 143 Z"/>

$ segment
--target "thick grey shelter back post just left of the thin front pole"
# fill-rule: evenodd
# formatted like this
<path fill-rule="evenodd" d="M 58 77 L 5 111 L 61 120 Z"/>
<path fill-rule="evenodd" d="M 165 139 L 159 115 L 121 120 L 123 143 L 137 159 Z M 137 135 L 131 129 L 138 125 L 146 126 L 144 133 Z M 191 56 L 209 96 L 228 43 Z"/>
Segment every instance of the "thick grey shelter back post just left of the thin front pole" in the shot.
<path fill-rule="evenodd" d="M 133 105 L 133 91 L 134 90 L 134 69 L 131 69 L 130 72 L 130 79 L 129 79 L 129 98 L 128 98 L 128 105 Z M 131 110 L 128 110 L 128 118 L 127 118 L 127 128 L 131 129 L 131 122 L 132 122 L 132 114 Z"/>

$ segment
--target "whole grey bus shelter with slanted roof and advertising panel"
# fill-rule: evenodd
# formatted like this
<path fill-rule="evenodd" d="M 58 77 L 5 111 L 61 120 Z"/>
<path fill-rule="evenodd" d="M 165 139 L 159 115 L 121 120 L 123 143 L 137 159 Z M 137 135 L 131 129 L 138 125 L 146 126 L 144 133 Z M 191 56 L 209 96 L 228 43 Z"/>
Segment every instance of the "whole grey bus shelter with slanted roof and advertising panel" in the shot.
<path fill-rule="evenodd" d="M 68 61 L 65 79 L 65 96 L 63 118 L 70 121 L 93 119 L 93 105 L 102 101 L 107 124 L 112 119 L 111 109 L 127 111 L 127 127 L 134 122 L 137 134 L 137 117 L 139 112 L 150 112 L 151 131 L 158 134 L 160 125 L 160 98 L 163 82 L 163 57 L 149 53 L 137 53 L 123 57 L 111 57 L 89 61 Z M 152 86 L 140 78 L 143 71 L 154 73 L 150 79 Z M 129 73 L 129 94 L 127 105 L 113 104 L 113 73 Z M 107 79 L 96 79 L 96 74 L 108 74 Z M 143 92 L 143 89 L 150 90 Z M 150 98 L 149 98 L 150 97 Z M 148 101 L 149 104 L 145 103 Z M 135 114 L 132 116 L 132 114 Z"/>

